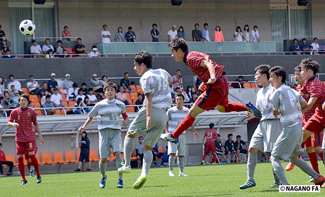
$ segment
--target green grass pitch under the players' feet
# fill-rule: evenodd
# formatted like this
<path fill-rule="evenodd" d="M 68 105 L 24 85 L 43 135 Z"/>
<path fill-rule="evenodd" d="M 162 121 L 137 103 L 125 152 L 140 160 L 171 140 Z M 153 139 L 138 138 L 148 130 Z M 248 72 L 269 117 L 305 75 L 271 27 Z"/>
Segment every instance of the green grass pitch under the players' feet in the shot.
<path fill-rule="evenodd" d="M 283 163 L 285 166 L 287 163 Z M 319 161 L 321 173 L 325 174 L 323 163 Z M 140 190 L 131 189 L 140 174 L 140 169 L 124 175 L 124 188 L 116 188 L 117 172 L 107 171 L 105 189 L 99 189 L 99 172 L 79 172 L 42 175 L 42 183 L 37 185 L 35 177 L 27 177 L 26 185 L 20 185 L 20 177 L 1 177 L 1 197 L 325 197 L 321 193 L 279 193 L 268 190 L 273 182 L 270 163 L 259 163 L 256 168 L 257 186 L 239 190 L 246 180 L 246 164 L 186 166 L 189 177 L 168 177 L 168 168 L 151 168 L 146 184 Z M 174 167 L 175 175 L 178 168 Z M 286 172 L 292 185 L 306 185 L 309 176 L 295 167 Z M 312 185 L 312 183 L 308 183 Z"/>

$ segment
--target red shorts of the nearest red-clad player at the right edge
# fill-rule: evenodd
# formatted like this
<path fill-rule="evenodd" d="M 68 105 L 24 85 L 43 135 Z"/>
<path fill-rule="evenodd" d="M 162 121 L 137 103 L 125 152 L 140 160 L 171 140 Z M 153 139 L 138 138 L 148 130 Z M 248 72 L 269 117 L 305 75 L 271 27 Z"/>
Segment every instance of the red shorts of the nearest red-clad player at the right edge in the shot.
<path fill-rule="evenodd" d="M 320 134 L 325 129 L 325 113 L 320 112 L 319 108 L 317 107 L 315 114 L 307 121 L 303 128 L 307 131 Z"/>

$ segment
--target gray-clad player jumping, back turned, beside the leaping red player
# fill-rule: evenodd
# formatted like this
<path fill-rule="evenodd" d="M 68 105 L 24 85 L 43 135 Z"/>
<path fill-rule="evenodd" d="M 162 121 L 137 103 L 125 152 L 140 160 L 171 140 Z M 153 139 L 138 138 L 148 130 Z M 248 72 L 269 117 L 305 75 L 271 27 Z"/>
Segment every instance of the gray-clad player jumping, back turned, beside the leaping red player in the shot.
<path fill-rule="evenodd" d="M 124 139 L 125 164 L 118 169 L 120 173 L 130 173 L 130 158 L 134 137 L 145 134 L 143 144 L 142 173 L 133 184 L 133 189 L 140 189 L 147 180 L 152 163 L 152 149 L 164 131 L 167 122 L 166 109 L 171 106 L 169 86 L 172 77 L 164 69 L 152 69 L 152 56 L 147 51 L 140 51 L 133 57 L 136 74 L 142 75 L 140 84 L 145 95 L 144 106 L 133 119 Z M 177 143 L 177 140 L 175 140 Z"/>

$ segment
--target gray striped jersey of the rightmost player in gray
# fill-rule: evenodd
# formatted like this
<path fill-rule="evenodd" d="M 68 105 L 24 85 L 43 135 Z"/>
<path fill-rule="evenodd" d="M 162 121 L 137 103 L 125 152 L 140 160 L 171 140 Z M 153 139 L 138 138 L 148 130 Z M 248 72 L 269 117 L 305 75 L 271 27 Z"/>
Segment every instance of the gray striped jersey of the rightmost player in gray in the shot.
<path fill-rule="evenodd" d="M 301 124 L 301 105 L 304 99 L 297 91 L 282 84 L 270 97 L 275 111 L 279 110 L 282 127 Z"/>

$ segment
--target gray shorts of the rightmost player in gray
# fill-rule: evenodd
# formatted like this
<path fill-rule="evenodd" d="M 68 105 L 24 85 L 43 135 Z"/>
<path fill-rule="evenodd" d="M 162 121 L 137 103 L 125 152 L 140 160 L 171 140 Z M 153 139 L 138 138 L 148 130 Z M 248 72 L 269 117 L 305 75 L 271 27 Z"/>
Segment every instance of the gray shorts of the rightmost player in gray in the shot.
<path fill-rule="evenodd" d="M 290 157 L 294 156 L 294 151 L 301 148 L 302 138 L 302 126 L 300 123 L 292 127 L 283 128 L 271 154 L 274 157 L 288 161 Z"/>

